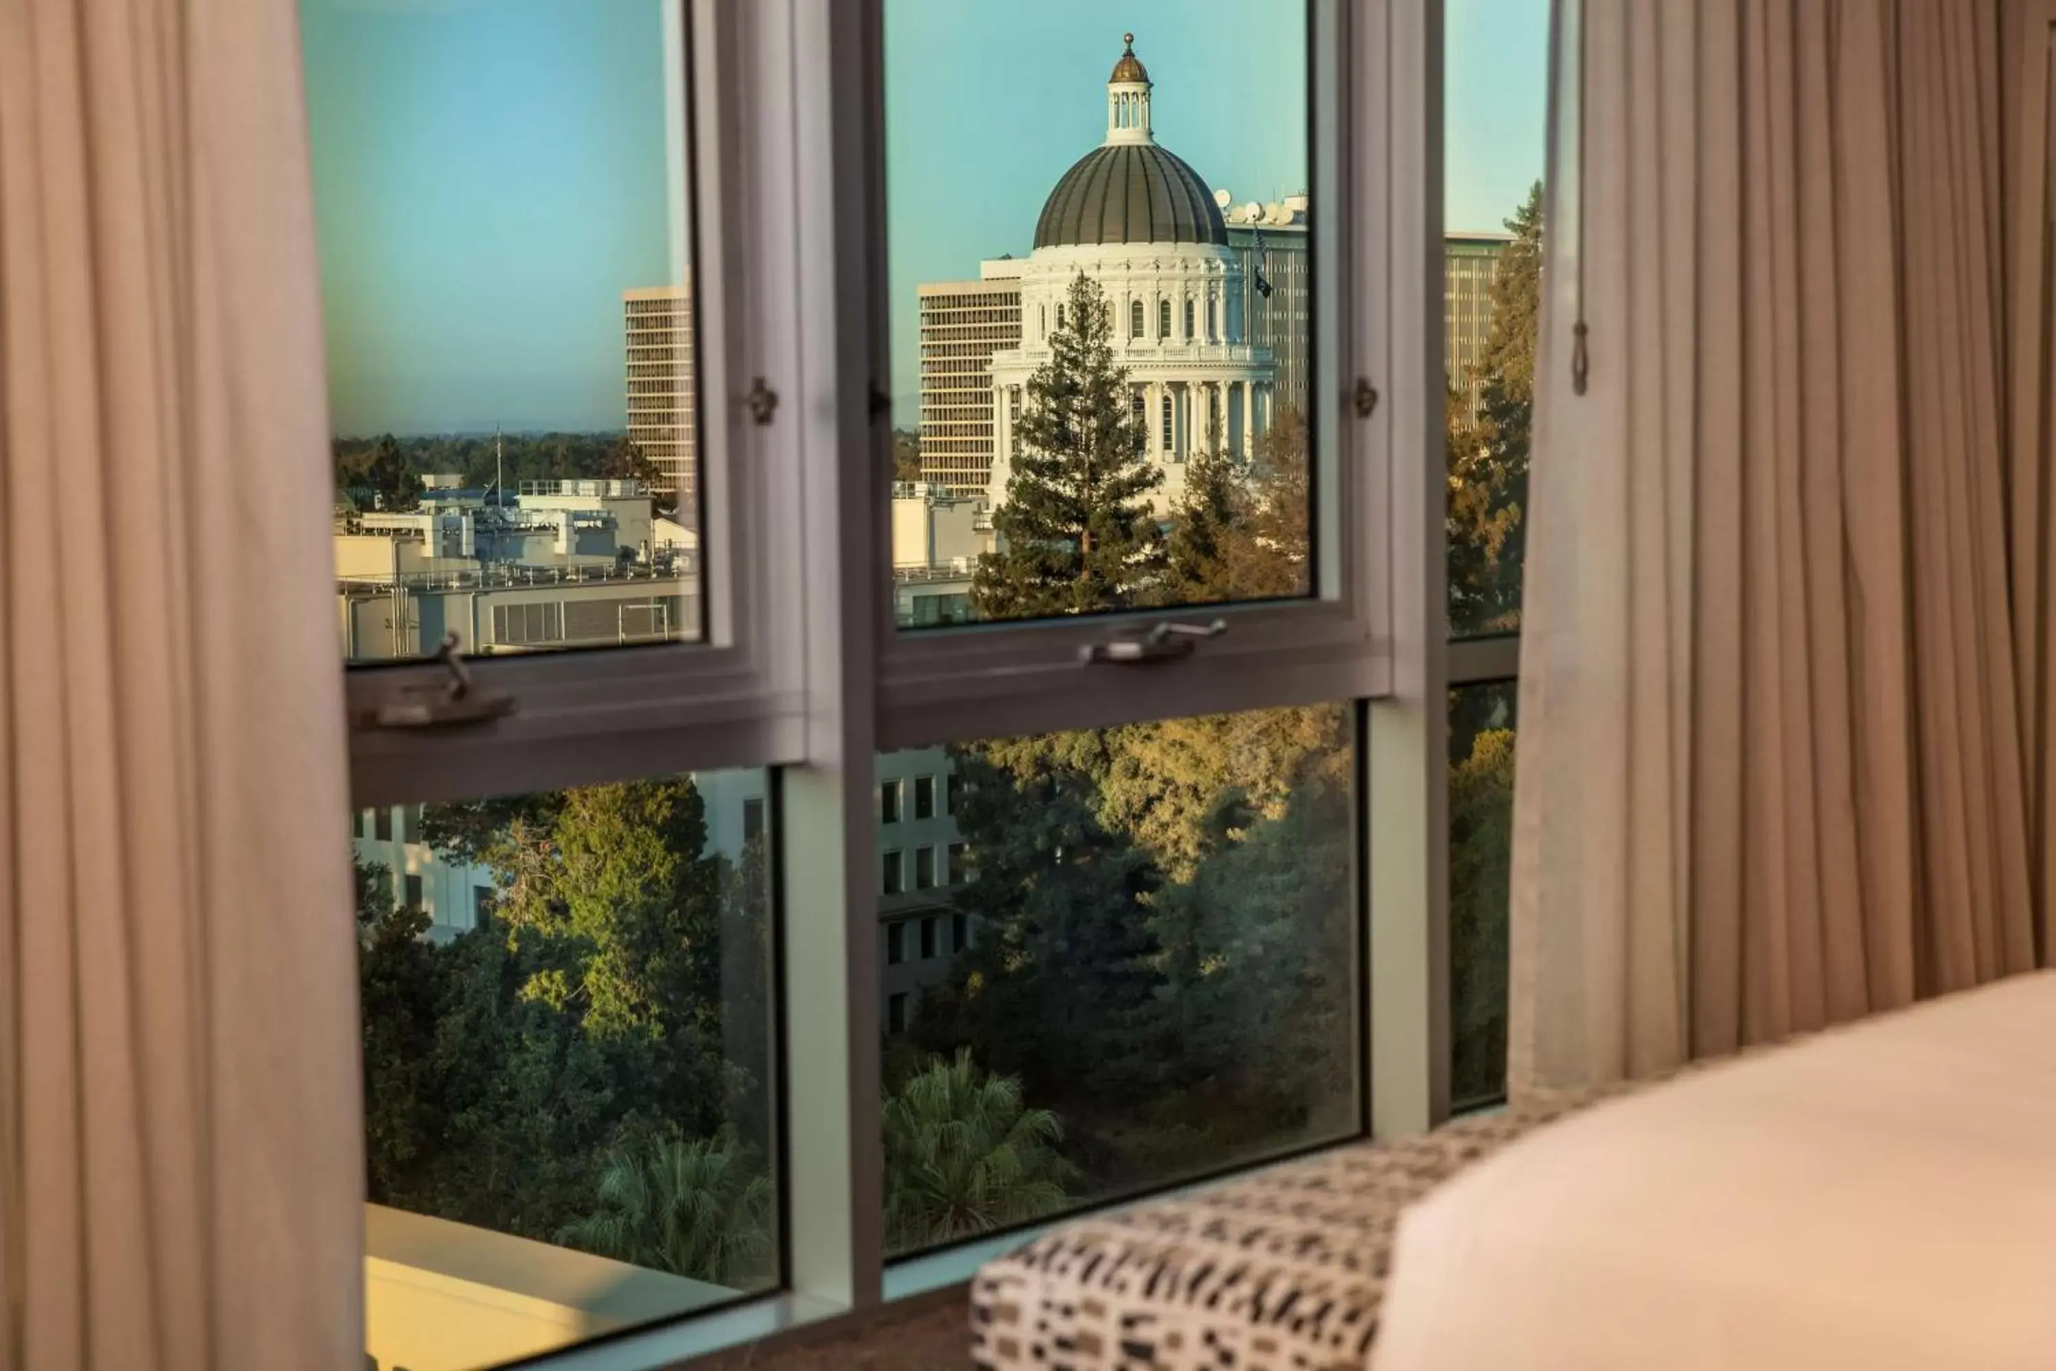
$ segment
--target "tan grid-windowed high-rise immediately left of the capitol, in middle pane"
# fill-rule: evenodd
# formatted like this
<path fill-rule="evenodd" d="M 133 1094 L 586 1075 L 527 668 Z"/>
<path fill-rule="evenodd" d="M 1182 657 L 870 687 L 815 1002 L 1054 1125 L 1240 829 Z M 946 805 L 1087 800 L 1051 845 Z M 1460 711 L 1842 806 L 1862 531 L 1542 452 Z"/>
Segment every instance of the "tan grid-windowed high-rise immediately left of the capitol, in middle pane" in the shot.
<path fill-rule="evenodd" d="M 921 286 L 921 479 L 983 495 L 993 471 L 993 354 L 1020 347 L 1020 263 Z"/>

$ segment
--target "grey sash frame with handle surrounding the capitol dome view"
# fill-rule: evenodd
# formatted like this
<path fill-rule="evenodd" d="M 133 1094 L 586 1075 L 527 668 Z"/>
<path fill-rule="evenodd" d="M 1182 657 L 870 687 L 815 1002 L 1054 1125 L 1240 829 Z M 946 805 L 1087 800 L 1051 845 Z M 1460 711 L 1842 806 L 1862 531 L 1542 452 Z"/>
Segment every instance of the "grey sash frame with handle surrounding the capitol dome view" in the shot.
<path fill-rule="evenodd" d="M 1396 8 L 1435 8 L 1439 0 L 1386 0 Z M 870 136 L 859 148 L 861 166 L 884 183 L 882 115 L 882 0 L 859 0 L 857 58 L 849 64 L 843 117 Z M 1127 724 L 1145 717 L 1221 713 L 1269 705 L 1310 705 L 1336 699 L 1378 699 L 1394 691 L 1394 557 L 1378 547 L 1369 530 L 1390 526 L 1398 423 L 1410 415 L 1398 403 L 1400 376 L 1417 370 L 1417 358 L 1394 354 L 1390 310 L 1396 304 L 1388 277 L 1398 271 L 1402 245 L 1396 238 L 1388 181 L 1396 148 L 1384 105 L 1359 109 L 1375 115 L 1345 127 L 1349 109 L 1345 45 L 1382 41 L 1384 6 L 1359 14 L 1343 0 L 1308 0 L 1308 129 L 1312 179 L 1312 234 L 1316 259 L 1310 263 L 1312 382 L 1310 415 L 1316 489 L 1312 596 L 1234 604 L 1139 608 L 1057 621 L 979 623 L 898 631 L 890 615 L 888 580 L 876 586 L 872 623 L 880 660 L 878 732 L 884 748 L 923 746 L 995 734 L 1032 734 L 1059 728 Z M 1357 37 L 1353 39 L 1351 33 Z M 1384 53 L 1378 53 L 1384 60 Z M 870 70 L 864 70 L 870 64 Z M 1320 129 L 1334 136 L 1322 138 Z M 1357 150 L 1347 166 L 1345 142 Z M 1437 191 L 1439 193 L 1439 191 Z M 1343 206 L 1351 214 L 1343 214 Z M 870 347 L 849 360 L 849 384 L 888 393 L 892 277 L 886 261 L 882 203 L 866 232 L 866 282 L 853 308 L 866 314 Z M 1439 290 L 1439 228 L 1435 288 Z M 1423 253 L 1415 261 L 1427 259 Z M 1166 314 L 1170 300 L 1162 302 Z M 1343 327 L 1343 321 L 1351 327 Z M 1435 321 L 1439 325 L 1439 319 Z M 1439 345 L 1439 343 L 1437 343 Z M 1437 384 L 1439 382 L 1439 354 Z M 1382 403 L 1359 417 L 1349 397 L 1355 380 L 1382 393 Z M 1390 382 L 1390 384 L 1388 384 Z M 1168 432 L 1164 438 L 1168 440 Z M 851 436 L 855 438 L 855 436 Z M 886 460 L 890 425 L 880 415 L 868 442 L 853 442 L 845 460 Z M 888 541 L 890 502 L 884 489 L 872 493 L 874 536 Z M 1108 637 L 1137 633 L 1153 623 L 1227 625 L 1227 633 L 1205 641 L 1190 656 L 1133 670 L 1094 666 L 1079 670 L 1081 654 Z"/>

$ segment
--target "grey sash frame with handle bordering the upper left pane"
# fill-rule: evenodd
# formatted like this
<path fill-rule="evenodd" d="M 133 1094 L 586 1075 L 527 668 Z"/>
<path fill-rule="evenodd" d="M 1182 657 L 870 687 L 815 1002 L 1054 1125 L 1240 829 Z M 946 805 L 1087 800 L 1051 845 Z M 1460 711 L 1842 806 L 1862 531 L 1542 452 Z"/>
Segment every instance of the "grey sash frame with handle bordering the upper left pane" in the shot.
<path fill-rule="evenodd" d="M 516 701 L 504 719 L 448 730 L 364 724 L 378 705 L 448 678 L 434 662 L 345 664 L 352 798 L 438 802 L 557 789 L 625 773 L 709 771 L 800 761 L 806 752 L 804 658 L 790 604 L 798 573 L 779 545 L 794 524 L 800 444 L 794 425 L 750 423 L 752 376 L 798 366 L 790 317 L 798 286 L 773 263 L 796 251 L 790 72 L 767 35 L 790 31 L 781 6 L 668 0 L 685 16 L 674 62 L 685 76 L 691 148 L 695 421 L 699 423 L 701 625 L 695 643 L 518 656 L 467 656 L 479 689 Z"/>

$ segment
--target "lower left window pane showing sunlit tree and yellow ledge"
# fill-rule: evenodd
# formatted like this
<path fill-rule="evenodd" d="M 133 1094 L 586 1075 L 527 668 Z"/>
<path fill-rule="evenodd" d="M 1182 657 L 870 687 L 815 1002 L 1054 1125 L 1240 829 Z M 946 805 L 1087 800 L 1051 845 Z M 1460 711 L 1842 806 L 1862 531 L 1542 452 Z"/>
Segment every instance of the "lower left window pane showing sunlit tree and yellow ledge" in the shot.
<path fill-rule="evenodd" d="M 765 795 L 718 771 L 354 843 L 372 1363 L 498 1365 L 777 1283 Z"/>

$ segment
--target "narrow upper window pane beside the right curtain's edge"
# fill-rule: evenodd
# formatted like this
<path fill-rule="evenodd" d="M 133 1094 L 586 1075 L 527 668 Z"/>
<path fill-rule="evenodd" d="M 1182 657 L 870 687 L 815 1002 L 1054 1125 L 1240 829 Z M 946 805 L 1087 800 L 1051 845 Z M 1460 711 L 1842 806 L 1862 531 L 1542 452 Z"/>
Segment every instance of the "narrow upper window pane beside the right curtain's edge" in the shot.
<path fill-rule="evenodd" d="M 1449 0 L 1445 23 L 1449 631 L 1460 637 L 1521 621 L 1548 12 L 1548 0 Z"/>

